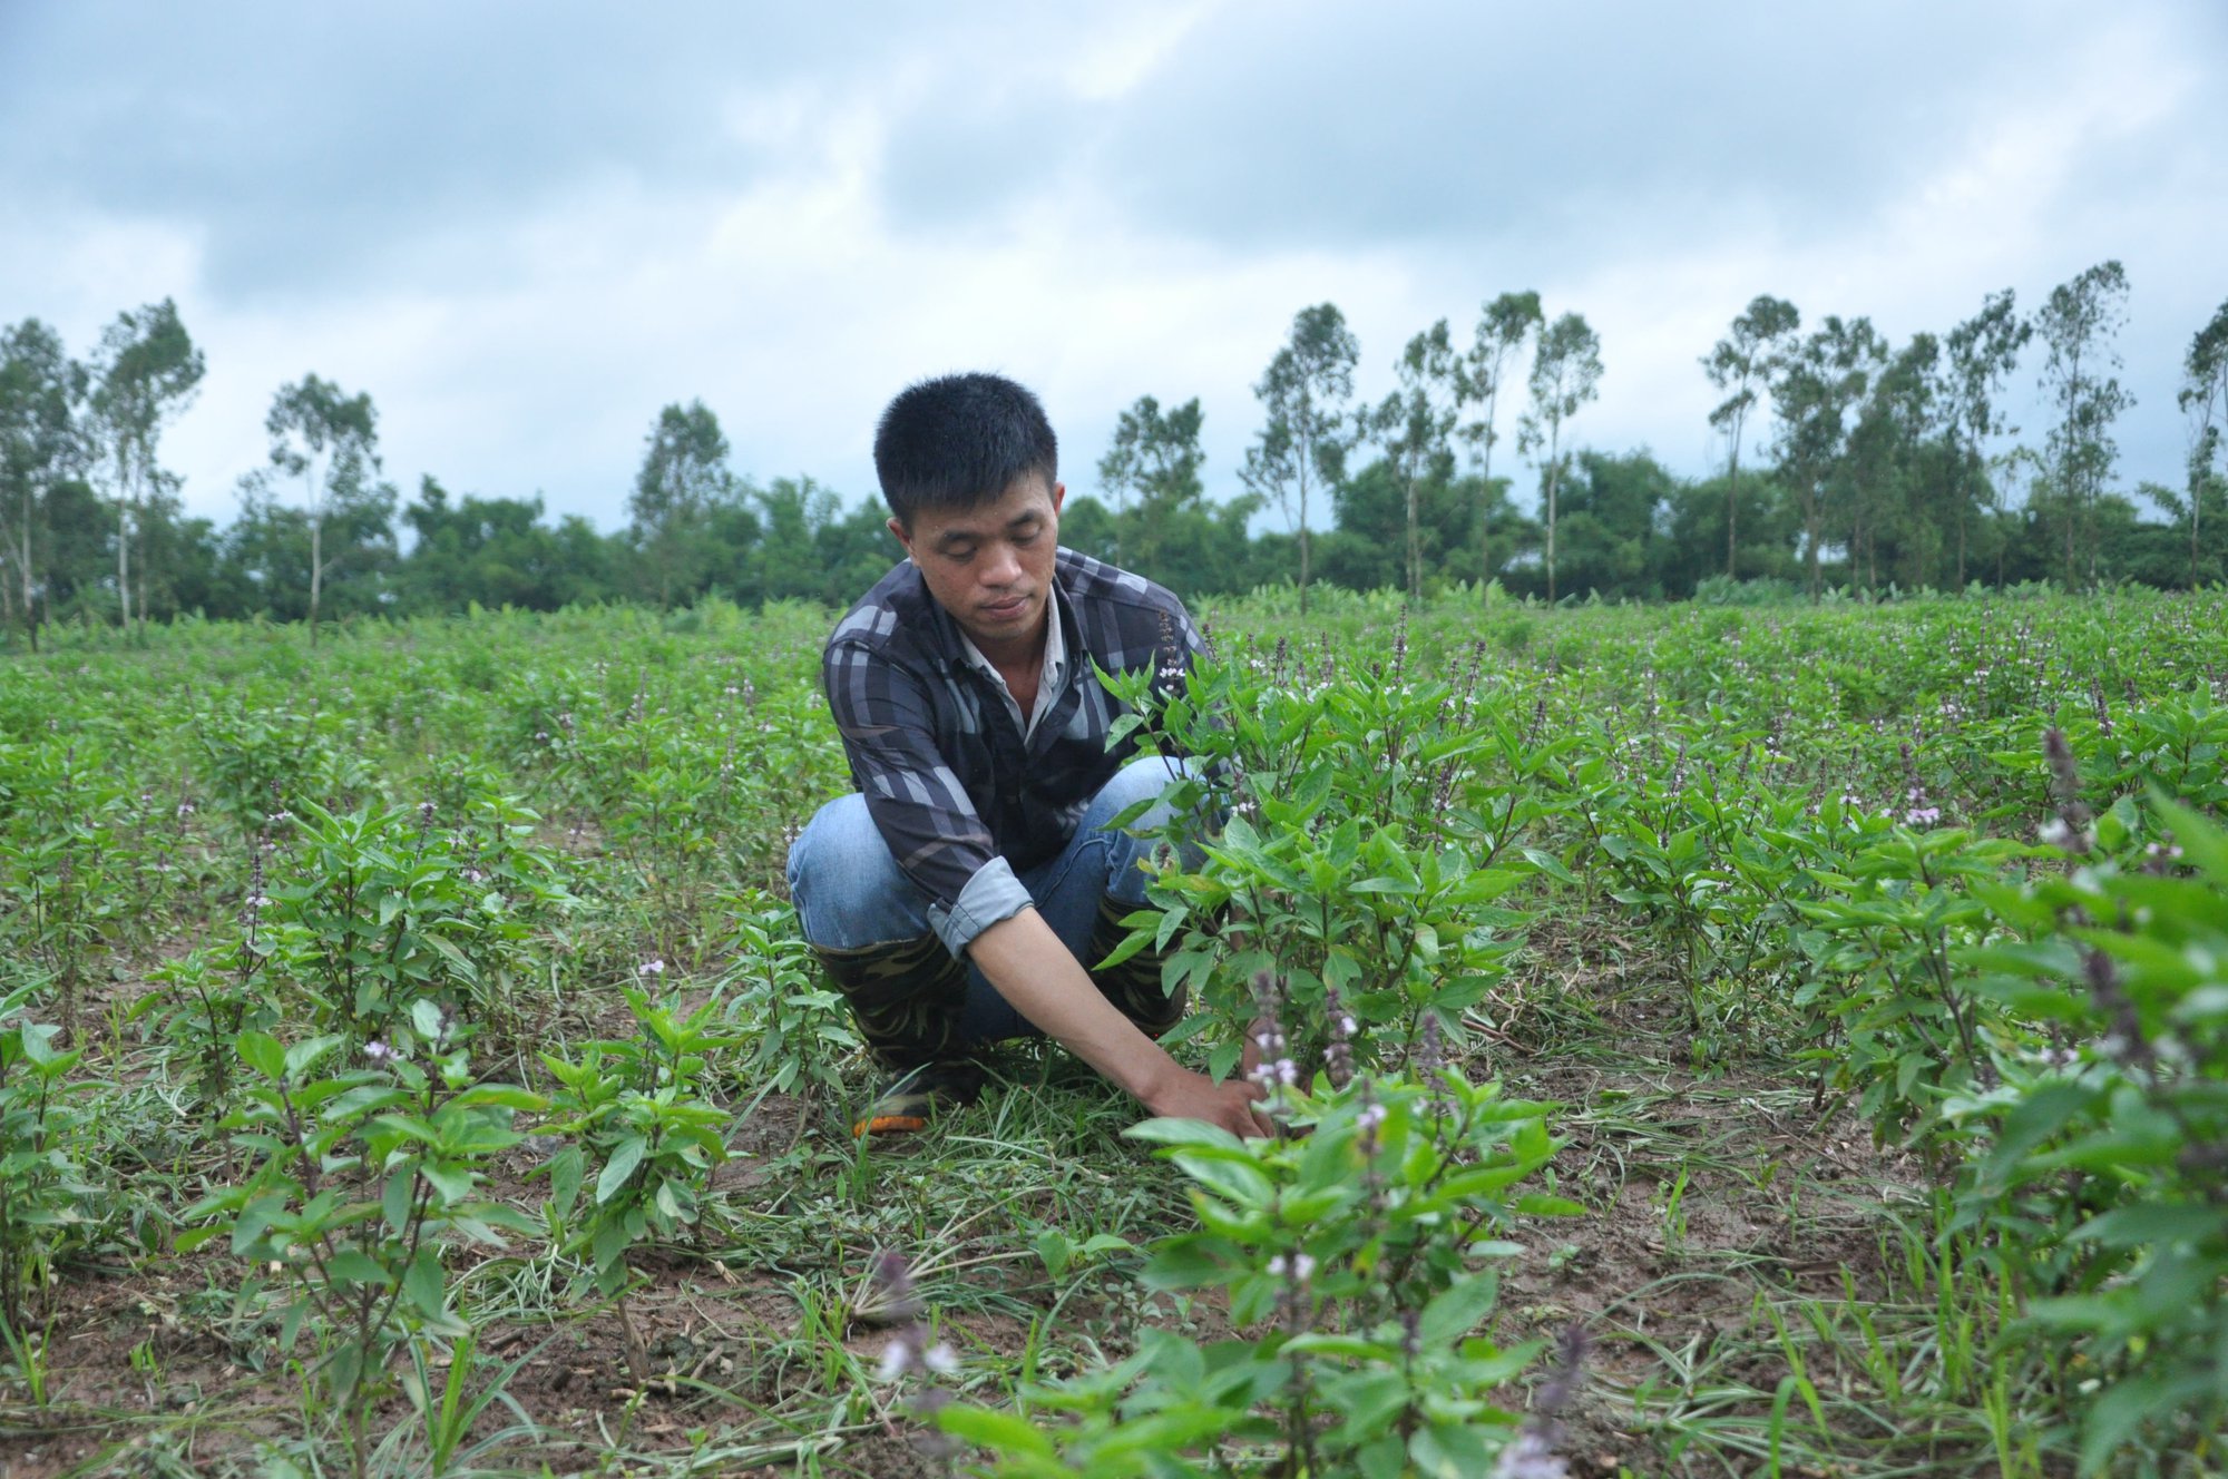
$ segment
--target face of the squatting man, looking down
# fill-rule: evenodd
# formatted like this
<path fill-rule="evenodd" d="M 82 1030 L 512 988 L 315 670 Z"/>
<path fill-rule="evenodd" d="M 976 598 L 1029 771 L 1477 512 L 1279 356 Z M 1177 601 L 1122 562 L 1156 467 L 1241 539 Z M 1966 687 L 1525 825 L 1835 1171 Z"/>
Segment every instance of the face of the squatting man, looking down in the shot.
<path fill-rule="evenodd" d="M 889 532 L 983 655 L 1016 662 L 1045 630 L 1065 499 L 1063 483 L 1023 477 L 989 503 L 967 512 L 920 510 L 911 530 L 891 519 Z"/>

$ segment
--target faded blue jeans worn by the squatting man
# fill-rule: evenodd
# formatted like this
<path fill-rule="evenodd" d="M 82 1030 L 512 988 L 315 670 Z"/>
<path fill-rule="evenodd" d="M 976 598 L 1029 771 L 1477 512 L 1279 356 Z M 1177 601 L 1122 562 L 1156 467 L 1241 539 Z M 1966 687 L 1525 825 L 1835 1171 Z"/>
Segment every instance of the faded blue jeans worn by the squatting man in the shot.
<path fill-rule="evenodd" d="M 1107 822 L 1136 802 L 1159 797 L 1185 768 L 1183 760 L 1156 755 L 1132 760 L 1092 797 L 1076 835 L 1058 858 L 1018 873 L 1020 887 L 1036 900 L 1036 913 L 1085 969 L 1112 949 L 1112 944 L 1096 951 L 1092 947 L 1101 915 L 1112 907 L 1127 913 L 1145 902 L 1147 875 L 1139 864 L 1154 846 L 1127 831 L 1110 831 Z M 1156 804 L 1132 826 L 1150 829 L 1165 820 L 1167 809 Z M 804 824 L 789 849 L 789 895 L 795 900 L 804 940 L 822 953 L 822 960 L 885 949 L 907 951 L 925 962 L 945 956 L 929 929 L 929 900 L 898 869 L 889 844 L 867 815 L 867 797 L 858 793 L 836 797 Z M 929 944 L 934 949 L 927 949 Z M 838 978 L 838 985 L 844 982 Z M 858 1007 L 856 996 L 853 1007 Z M 864 1016 L 860 1025 L 867 1027 Z M 1027 1036 L 1040 1034 L 969 962 L 958 1042 Z"/>

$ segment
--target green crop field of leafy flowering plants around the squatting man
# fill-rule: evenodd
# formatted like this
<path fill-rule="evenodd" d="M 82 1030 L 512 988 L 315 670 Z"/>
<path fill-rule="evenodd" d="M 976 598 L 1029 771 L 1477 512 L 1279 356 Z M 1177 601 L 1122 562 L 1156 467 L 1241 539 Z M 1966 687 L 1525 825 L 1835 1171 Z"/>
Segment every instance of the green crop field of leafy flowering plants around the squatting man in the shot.
<path fill-rule="evenodd" d="M 2228 595 L 1205 617 L 1274 1140 L 853 1143 L 827 610 L 0 659 L 0 1475 L 2228 1472 Z"/>

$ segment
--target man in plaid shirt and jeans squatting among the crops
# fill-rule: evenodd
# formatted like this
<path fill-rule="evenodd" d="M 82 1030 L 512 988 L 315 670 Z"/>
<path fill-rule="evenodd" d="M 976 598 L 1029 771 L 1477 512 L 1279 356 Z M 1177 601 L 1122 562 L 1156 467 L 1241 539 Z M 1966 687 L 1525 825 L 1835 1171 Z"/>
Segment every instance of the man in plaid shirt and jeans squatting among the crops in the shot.
<path fill-rule="evenodd" d="M 1152 1114 L 1268 1134 L 1254 1085 L 1216 1085 L 1154 1040 L 1183 1016 L 1156 960 L 1087 971 L 1145 898 L 1143 844 L 1105 824 L 1170 780 L 1165 760 L 1107 751 L 1121 711 L 1092 664 L 1179 682 L 1199 646 L 1183 604 L 1058 548 L 1058 443 L 1007 379 L 911 385 L 873 466 L 907 559 L 822 662 L 858 793 L 789 851 L 804 938 L 898 1076 L 856 1132 L 971 1100 L 976 1049 L 1034 1029 Z"/>

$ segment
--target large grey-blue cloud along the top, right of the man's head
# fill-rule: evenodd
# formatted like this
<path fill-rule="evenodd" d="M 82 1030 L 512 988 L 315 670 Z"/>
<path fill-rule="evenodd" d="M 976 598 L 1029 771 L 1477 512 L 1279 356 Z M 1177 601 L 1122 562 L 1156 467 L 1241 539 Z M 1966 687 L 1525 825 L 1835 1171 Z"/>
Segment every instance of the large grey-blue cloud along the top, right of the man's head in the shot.
<path fill-rule="evenodd" d="M 2206 7 L 2166 7 L 2206 45 Z M 893 212 L 958 225 L 1089 178 L 1132 218 L 1232 249 L 1829 238 L 1958 143 L 2085 7 L 1254 0 L 1216 11 L 1114 105 L 1016 85 L 907 120 Z"/>

